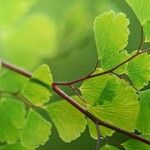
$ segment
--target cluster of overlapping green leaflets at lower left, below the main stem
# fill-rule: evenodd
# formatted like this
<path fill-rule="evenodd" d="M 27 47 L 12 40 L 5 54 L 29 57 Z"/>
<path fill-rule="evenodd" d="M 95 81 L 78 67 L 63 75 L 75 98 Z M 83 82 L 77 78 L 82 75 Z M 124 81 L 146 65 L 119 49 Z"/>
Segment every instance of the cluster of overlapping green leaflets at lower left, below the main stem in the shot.
<path fill-rule="evenodd" d="M 48 66 L 42 65 L 33 73 L 21 93 L 13 94 L 10 91 L 3 93 L 1 89 L 0 141 L 9 144 L 1 149 L 11 144 L 18 150 L 22 150 L 23 147 L 30 150 L 45 144 L 51 134 L 52 124 L 36 110 L 38 108 L 49 114 L 61 139 L 65 142 L 75 140 L 84 132 L 87 121 L 73 106 L 66 101 L 47 104 L 53 94 L 52 82 Z M 29 109 L 25 108 L 20 99 L 27 102 Z M 47 105 L 44 106 L 45 104 Z M 17 144 L 17 141 L 20 142 Z"/>

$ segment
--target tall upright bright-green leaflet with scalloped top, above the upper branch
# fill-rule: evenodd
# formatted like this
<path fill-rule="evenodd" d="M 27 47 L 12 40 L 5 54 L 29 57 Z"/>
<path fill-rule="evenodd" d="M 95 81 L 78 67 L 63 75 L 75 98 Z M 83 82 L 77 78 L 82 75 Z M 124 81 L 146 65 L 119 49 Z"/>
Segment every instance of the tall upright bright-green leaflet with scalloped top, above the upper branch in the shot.
<path fill-rule="evenodd" d="M 94 33 L 102 68 L 113 68 L 127 58 L 127 51 L 123 49 L 128 44 L 128 25 L 129 20 L 123 13 L 110 11 L 96 17 Z"/>

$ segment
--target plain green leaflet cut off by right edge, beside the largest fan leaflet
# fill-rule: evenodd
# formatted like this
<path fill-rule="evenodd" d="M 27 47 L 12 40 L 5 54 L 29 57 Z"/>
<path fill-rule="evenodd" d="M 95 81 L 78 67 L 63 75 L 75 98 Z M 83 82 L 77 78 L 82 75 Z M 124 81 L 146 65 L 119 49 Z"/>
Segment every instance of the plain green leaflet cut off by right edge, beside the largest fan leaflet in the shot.
<path fill-rule="evenodd" d="M 140 95 L 140 112 L 138 116 L 138 129 L 142 134 L 150 134 L 150 90 Z"/>

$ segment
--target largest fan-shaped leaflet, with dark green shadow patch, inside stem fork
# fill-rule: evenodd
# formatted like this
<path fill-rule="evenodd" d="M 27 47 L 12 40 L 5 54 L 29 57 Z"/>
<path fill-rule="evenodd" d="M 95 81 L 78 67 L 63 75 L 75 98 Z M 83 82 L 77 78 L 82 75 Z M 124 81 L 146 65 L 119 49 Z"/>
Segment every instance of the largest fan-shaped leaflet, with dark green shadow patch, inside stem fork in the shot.
<path fill-rule="evenodd" d="M 94 105 L 87 105 L 87 109 L 103 121 L 106 121 L 125 130 L 134 131 L 139 109 L 136 91 L 126 82 L 114 76 L 106 75 L 104 77 L 97 77 L 92 79 L 95 80 L 95 83 L 97 81 L 99 84 L 101 84 L 102 87 L 105 88 L 103 91 L 101 90 L 101 92 L 98 93 L 99 97 L 97 96 L 98 99 L 95 99 Z M 102 82 L 100 82 L 100 79 L 98 78 L 101 78 Z M 107 82 L 103 82 L 104 80 Z M 97 85 L 91 84 L 91 92 L 92 90 L 97 89 L 99 86 Z M 86 93 L 86 91 L 84 92 Z M 90 96 L 90 99 L 92 99 L 92 95 Z M 85 99 L 89 102 L 89 104 L 91 104 L 90 99 L 87 98 L 89 97 L 86 97 L 85 95 Z M 90 130 L 93 130 L 94 127 L 92 127 L 92 122 L 89 125 Z M 96 136 L 96 133 L 94 133 L 95 131 L 90 131 L 90 133 L 92 133 L 92 137 Z M 112 132 L 113 131 L 110 129 L 101 127 L 101 133 L 103 136 L 111 135 Z M 97 138 L 97 136 L 95 138 Z"/>

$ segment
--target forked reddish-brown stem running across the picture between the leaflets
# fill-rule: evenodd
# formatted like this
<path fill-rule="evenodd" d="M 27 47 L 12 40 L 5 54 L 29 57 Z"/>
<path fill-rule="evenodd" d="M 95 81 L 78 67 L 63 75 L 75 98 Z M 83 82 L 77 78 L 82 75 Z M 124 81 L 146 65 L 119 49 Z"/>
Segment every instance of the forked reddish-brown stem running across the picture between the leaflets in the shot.
<path fill-rule="evenodd" d="M 150 52 L 150 49 L 146 49 L 146 50 L 143 50 L 143 51 L 139 51 L 137 52 L 136 54 L 134 54 L 133 56 L 131 56 L 130 58 L 128 58 L 127 60 L 125 60 L 124 62 L 120 63 L 119 65 L 115 66 L 114 68 L 112 69 L 109 69 L 107 71 L 104 71 L 104 72 L 101 72 L 101 73 L 97 73 L 97 74 L 89 74 L 85 77 L 82 77 L 80 79 L 77 79 L 77 80 L 74 80 L 74 81 L 70 81 L 70 82 L 54 82 L 52 84 L 52 88 L 53 90 L 58 94 L 60 95 L 62 98 L 64 98 L 66 101 L 68 101 L 71 105 L 73 105 L 76 109 L 78 109 L 81 113 L 83 113 L 86 117 L 88 117 L 89 119 L 91 119 L 95 124 L 99 124 L 101 126 L 104 126 L 104 127 L 107 127 L 107 128 L 110 128 L 114 131 L 117 131 L 117 132 L 120 132 L 120 133 L 123 133 L 127 136 L 129 136 L 130 138 L 133 138 L 133 139 L 136 139 L 136 140 L 139 140 L 143 143 L 146 143 L 146 144 L 149 144 L 150 145 L 150 140 L 148 139 L 145 139 L 141 136 L 138 136 L 132 132 L 128 132 L 126 130 L 123 130 L 121 128 L 118 128 L 114 125 L 111 125 L 105 121 L 102 121 L 100 120 L 99 118 L 95 117 L 92 113 L 90 113 L 89 111 L 87 111 L 84 107 L 82 107 L 80 104 L 78 104 L 74 99 L 72 99 L 69 95 L 67 95 L 65 92 L 63 92 L 59 87 L 58 85 L 65 85 L 65 86 L 71 86 L 73 85 L 74 83 L 78 83 L 78 82 L 81 82 L 81 81 L 84 81 L 84 80 L 87 80 L 87 79 L 90 79 L 90 78 L 93 78 L 93 77 L 97 77 L 97 76 L 101 76 L 101 75 L 104 75 L 104 74 L 109 74 L 109 73 L 112 73 L 114 70 L 118 69 L 119 67 L 121 67 L 122 65 L 126 64 L 127 62 L 129 62 L 130 60 L 134 59 L 135 57 L 143 54 L 143 53 L 147 53 L 147 52 Z M 22 69 L 22 68 L 18 68 L 12 64 L 9 64 L 7 62 L 4 62 L 4 61 L 1 61 L 1 65 L 9 70 L 12 70 L 14 72 L 17 72 L 27 78 L 31 78 L 32 77 L 32 73 Z"/>

